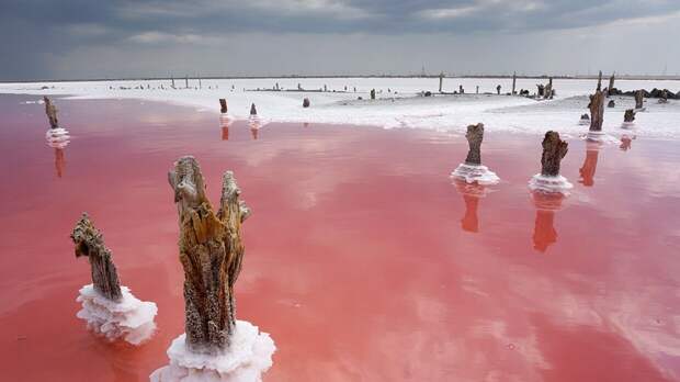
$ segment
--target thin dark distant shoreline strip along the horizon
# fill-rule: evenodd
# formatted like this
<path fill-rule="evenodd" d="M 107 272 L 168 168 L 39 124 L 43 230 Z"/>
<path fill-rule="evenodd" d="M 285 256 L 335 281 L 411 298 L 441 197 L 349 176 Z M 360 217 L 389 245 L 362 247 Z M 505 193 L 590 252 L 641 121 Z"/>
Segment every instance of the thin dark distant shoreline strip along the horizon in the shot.
<path fill-rule="evenodd" d="M 603 79 L 609 79 L 611 75 L 602 74 Z M 573 80 L 591 80 L 598 79 L 598 75 L 586 75 L 586 76 L 520 76 L 518 75 L 518 79 L 547 79 L 553 77 L 553 79 L 573 79 Z M 208 76 L 208 77 L 174 77 L 175 80 L 182 79 L 202 79 L 202 80 L 241 80 L 241 79 L 313 79 L 313 78 L 321 78 L 321 79 L 332 79 L 332 78 L 427 78 L 427 79 L 438 79 L 439 75 L 427 75 L 427 76 L 405 76 L 405 75 L 395 75 L 395 76 L 370 76 L 370 75 L 356 75 L 356 76 L 296 76 L 296 75 L 287 75 L 287 76 Z M 444 78 L 489 78 L 489 79 L 511 79 L 512 75 L 471 75 L 471 76 L 445 76 Z M 633 81 L 677 81 L 680 80 L 680 76 L 642 76 L 642 75 L 616 75 L 617 80 L 633 80 Z M 172 77 L 137 77 L 137 78 L 88 78 L 88 79 L 32 79 L 32 80 L 0 80 L 0 83 L 37 83 L 37 82 L 105 82 L 105 81 L 170 81 Z"/>

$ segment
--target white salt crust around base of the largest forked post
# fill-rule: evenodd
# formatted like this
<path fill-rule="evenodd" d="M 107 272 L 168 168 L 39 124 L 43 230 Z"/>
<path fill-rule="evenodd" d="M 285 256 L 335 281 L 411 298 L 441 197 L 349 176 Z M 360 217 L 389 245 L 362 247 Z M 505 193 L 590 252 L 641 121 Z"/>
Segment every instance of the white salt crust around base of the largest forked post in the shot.
<path fill-rule="evenodd" d="M 237 321 L 231 345 L 219 355 L 192 352 L 182 334 L 168 348 L 170 364 L 149 377 L 151 382 L 258 382 L 272 367 L 276 350 L 269 334 L 246 321 Z"/>

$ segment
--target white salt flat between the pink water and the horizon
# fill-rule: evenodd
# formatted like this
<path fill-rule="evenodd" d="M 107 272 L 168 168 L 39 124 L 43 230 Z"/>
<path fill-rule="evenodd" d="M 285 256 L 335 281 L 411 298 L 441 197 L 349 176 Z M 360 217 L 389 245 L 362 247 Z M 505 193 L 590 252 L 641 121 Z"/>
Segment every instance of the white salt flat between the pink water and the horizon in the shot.
<path fill-rule="evenodd" d="M 463 86 L 465 94 L 434 94 L 421 97 L 423 91 L 437 92 L 437 78 L 271 78 L 271 79 L 175 79 L 126 81 L 75 81 L 0 83 L 0 93 L 35 96 L 65 96 L 65 99 L 139 99 L 194 106 L 200 111 L 219 111 L 217 100 L 226 98 L 229 114 L 236 119 L 249 116 L 254 103 L 264 123 L 333 123 L 376 125 L 386 128 L 413 127 L 462 133 L 472 123 L 485 123 L 488 132 L 517 132 L 542 134 L 556 130 L 577 135 L 585 131 L 577 124 L 580 114 L 587 113 L 588 97 L 596 87 L 594 80 L 556 79 L 556 97 L 549 101 L 534 101 L 521 97 L 497 96 L 509 92 L 511 79 L 445 78 L 443 91 L 452 93 Z M 517 90 L 535 91 L 543 79 L 518 79 Z M 603 81 L 603 86 L 607 81 Z M 283 91 L 257 91 L 279 85 Z M 305 90 L 295 91 L 298 85 Z M 44 89 L 44 88 L 47 89 Z M 162 89 L 161 89 L 162 87 Z M 319 91 L 326 87 L 328 91 Z M 479 87 L 479 93 L 476 93 Z M 680 90 L 677 80 L 617 80 L 615 87 L 623 91 L 653 88 Z M 137 89 L 135 89 L 137 88 Z M 347 91 L 345 91 L 347 89 Z M 355 91 L 354 91 L 355 89 Z M 376 89 L 377 100 L 370 100 L 371 89 Z M 254 91 L 253 91 L 254 90 Z M 359 98 L 362 98 L 359 100 Z M 308 98 L 309 109 L 302 102 Z M 632 108 L 630 97 L 615 97 L 616 106 L 605 109 L 604 131 L 621 132 L 623 112 Z M 658 104 L 646 100 L 647 111 L 638 113 L 636 134 L 658 138 L 680 138 L 680 101 L 669 100 Z M 63 102 L 63 101 L 61 101 Z"/>

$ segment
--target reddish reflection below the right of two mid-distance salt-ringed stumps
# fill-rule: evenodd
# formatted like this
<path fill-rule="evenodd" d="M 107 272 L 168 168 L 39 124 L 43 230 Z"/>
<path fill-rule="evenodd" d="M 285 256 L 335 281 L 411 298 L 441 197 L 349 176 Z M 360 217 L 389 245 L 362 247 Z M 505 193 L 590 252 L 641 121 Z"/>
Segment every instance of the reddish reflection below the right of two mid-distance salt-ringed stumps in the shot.
<path fill-rule="evenodd" d="M 534 223 L 534 249 L 545 252 L 547 247 L 557 243 L 557 231 L 555 229 L 555 212 L 562 209 L 562 201 L 565 199 L 559 192 L 531 193 L 534 205 L 536 206 L 536 220 Z"/>

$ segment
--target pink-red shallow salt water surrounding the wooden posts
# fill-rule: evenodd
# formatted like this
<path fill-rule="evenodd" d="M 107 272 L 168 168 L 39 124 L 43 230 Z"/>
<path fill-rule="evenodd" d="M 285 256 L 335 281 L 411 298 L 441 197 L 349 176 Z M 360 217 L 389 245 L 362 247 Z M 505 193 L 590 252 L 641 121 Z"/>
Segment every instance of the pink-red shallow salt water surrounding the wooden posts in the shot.
<path fill-rule="evenodd" d="M 253 210 L 236 293 L 277 346 L 265 381 L 680 379 L 678 142 L 570 139 L 575 188 L 546 200 L 526 188 L 539 135 L 487 134 L 502 182 L 480 189 L 449 178 L 460 134 L 225 130 L 188 108 L 57 99 L 72 136 L 60 150 L 43 105 L 22 103 L 36 99 L 0 97 L 1 380 L 146 381 L 167 363 L 183 332 L 167 171 L 185 154 L 214 202 L 231 169 Z M 90 273 L 68 235 L 82 211 L 122 283 L 158 304 L 139 348 L 76 318 Z"/>

